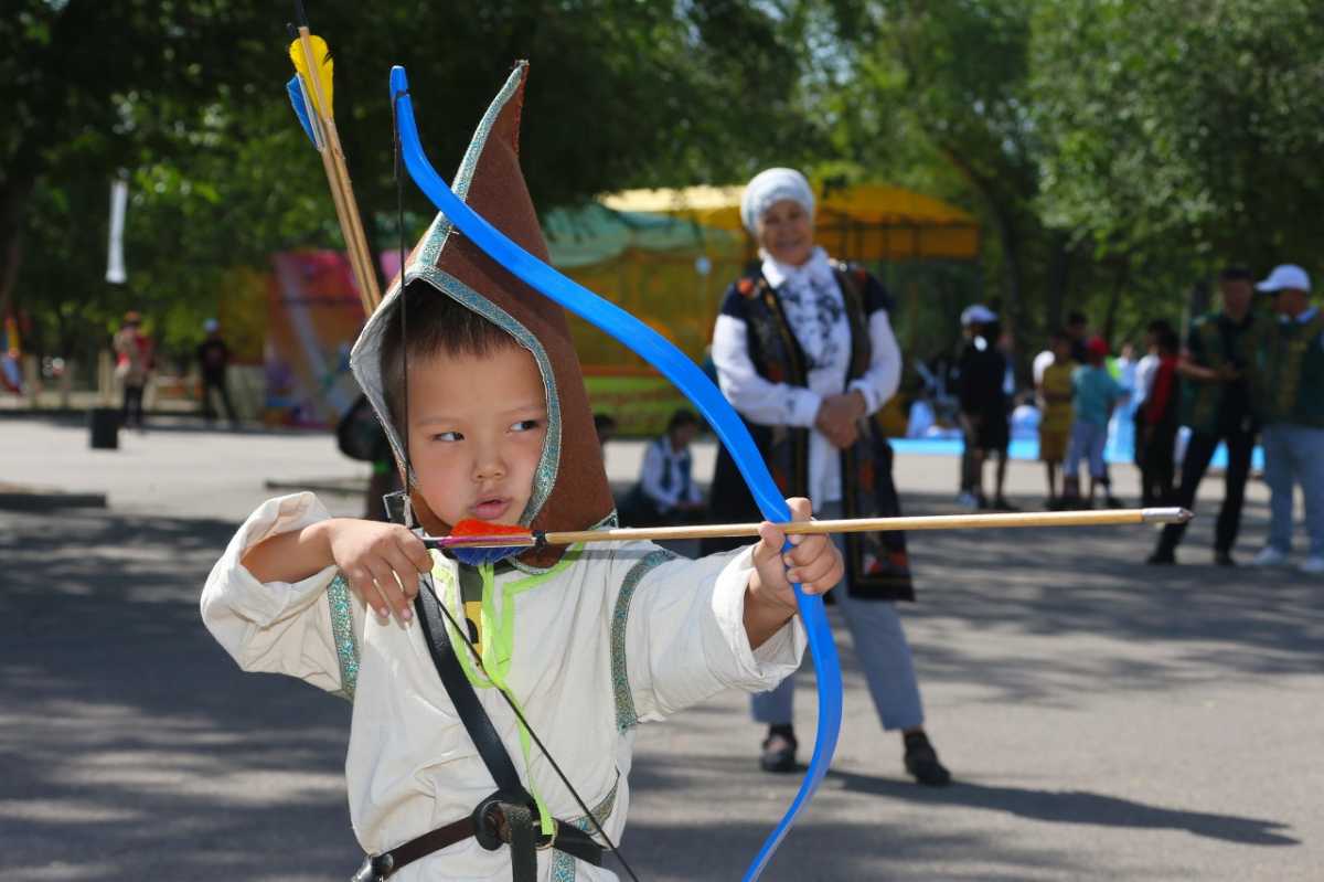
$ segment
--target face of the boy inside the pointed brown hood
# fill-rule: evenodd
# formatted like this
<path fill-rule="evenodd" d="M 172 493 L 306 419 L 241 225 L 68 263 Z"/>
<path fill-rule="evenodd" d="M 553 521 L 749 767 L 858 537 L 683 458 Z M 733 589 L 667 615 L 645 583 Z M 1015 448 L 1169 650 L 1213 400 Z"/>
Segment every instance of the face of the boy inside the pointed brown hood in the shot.
<path fill-rule="evenodd" d="M 543 377 L 523 347 L 409 366 L 409 457 L 428 507 L 446 523 L 518 523 L 545 436 Z"/>

